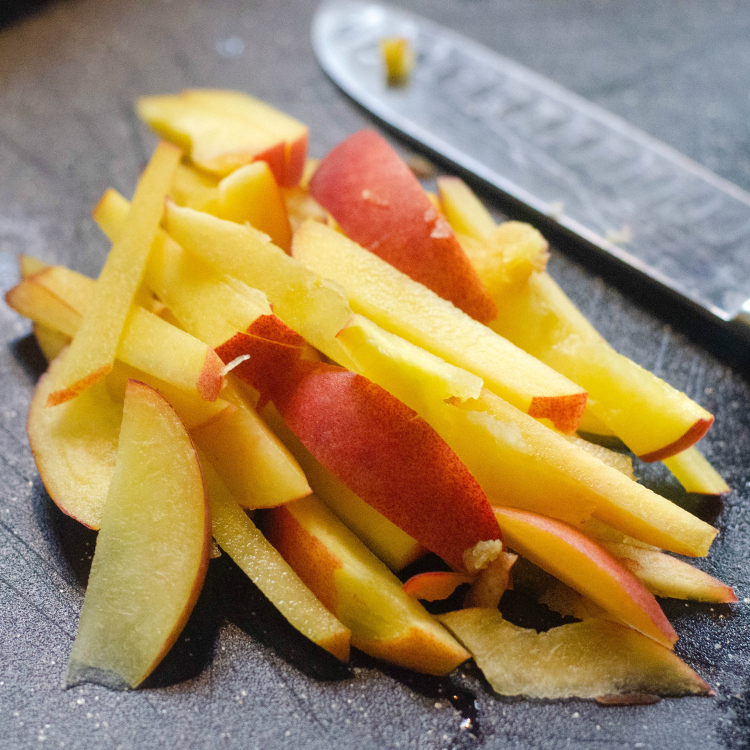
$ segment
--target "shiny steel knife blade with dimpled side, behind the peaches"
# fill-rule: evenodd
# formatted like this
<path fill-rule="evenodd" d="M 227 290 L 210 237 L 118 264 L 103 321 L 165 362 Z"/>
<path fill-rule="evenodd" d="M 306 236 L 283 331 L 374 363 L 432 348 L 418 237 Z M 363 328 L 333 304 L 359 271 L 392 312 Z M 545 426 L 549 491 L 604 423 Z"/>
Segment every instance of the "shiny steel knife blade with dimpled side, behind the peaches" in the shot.
<path fill-rule="evenodd" d="M 406 37 L 389 86 L 380 40 Z M 750 193 L 528 68 L 436 23 L 356 0 L 316 12 L 325 72 L 376 117 L 715 320 L 750 333 Z"/>

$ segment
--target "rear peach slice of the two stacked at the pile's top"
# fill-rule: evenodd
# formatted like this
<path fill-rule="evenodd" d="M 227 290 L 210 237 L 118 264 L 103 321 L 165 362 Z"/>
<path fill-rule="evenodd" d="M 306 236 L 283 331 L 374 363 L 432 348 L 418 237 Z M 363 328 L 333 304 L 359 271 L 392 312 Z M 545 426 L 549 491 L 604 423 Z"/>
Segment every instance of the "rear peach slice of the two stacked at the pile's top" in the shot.
<path fill-rule="evenodd" d="M 188 89 L 182 98 L 245 124 L 260 128 L 284 141 L 284 171 L 277 176 L 283 187 L 294 187 L 302 178 L 307 160 L 307 125 L 260 99 L 238 91 Z"/>

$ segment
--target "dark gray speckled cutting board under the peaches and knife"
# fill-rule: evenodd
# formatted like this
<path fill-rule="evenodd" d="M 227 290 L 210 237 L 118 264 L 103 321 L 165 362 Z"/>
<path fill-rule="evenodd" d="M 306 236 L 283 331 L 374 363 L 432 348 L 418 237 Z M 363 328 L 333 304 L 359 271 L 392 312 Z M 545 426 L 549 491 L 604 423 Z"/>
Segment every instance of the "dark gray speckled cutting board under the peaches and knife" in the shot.
<path fill-rule="evenodd" d="M 405 5 L 750 188 L 747 4 Z M 109 185 L 132 192 L 154 144 L 133 115 L 138 95 L 185 86 L 245 89 L 308 122 L 314 155 L 367 124 L 313 59 L 314 7 L 307 0 L 61 2 L 0 30 L 2 289 L 16 281 L 19 252 L 98 272 L 107 244 L 89 219 L 91 208 Z M 700 565 L 735 586 L 740 603 L 665 603 L 681 636 L 678 652 L 711 683 L 714 698 L 603 708 L 497 699 L 472 669 L 437 680 L 381 669 L 362 655 L 351 669 L 339 669 L 297 637 L 225 558 L 212 563 L 194 617 L 145 688 L 63 690 L 94 538 L 52 505 L 38 479 L 24 432 L 38 352 L 28 322 L 0 306 L 0 747 L 747 746 L 746 345 L 615 268 L 579 265 L 574 247 L 566 253 L 554 253 L 551 271 L 584 313 L 620 351 L 716 414 L 702 446 L 733 488 L 723 504 L 685 496 L 659 468 L 643 472 L 651 486 L 715 518 L 721 529 Z M 474 718 L 474 696 L 472 734 L 464 720 Z"/>

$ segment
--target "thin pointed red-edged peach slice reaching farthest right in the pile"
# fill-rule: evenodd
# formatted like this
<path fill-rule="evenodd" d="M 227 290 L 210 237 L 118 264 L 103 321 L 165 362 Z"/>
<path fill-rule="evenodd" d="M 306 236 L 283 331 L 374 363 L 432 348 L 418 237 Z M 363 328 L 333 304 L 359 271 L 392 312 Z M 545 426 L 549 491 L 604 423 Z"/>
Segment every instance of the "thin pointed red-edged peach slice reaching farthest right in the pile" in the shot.
<path fill-rule="evenodd" d="M 690 599 L 697 602 L 729 604 L 737 601 L 731 586 L 694 568 L 684 560 L 658 550 L 643 549 L 632 544 L 599 542 L 654 596 Z"/>

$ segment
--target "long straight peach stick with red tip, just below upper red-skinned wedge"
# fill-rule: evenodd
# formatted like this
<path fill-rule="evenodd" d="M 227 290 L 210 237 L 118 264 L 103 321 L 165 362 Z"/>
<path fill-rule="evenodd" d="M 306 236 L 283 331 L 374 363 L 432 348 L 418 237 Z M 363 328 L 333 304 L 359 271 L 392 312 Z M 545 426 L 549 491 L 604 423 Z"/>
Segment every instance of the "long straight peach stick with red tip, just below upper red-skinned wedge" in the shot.
<path fill-rule="evenodd" d="M 355 242 L 307 221 L 294 236 L 292 255 L 341 284 L 355 312 L 481 377 L 522 411 L 575 431 L 586 404 L 583 389 Z"/>

